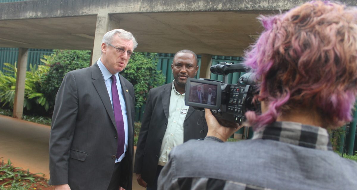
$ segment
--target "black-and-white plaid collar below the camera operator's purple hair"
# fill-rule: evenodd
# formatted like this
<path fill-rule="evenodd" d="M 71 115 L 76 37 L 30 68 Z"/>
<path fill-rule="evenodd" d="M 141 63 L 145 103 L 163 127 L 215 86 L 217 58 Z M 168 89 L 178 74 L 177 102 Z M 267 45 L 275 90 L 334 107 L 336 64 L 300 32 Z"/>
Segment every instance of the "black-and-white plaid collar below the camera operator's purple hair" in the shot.
<path fill-rule="evenodd" d="M 252 139 L 276 140 L 301 147 L 332 150 L 330 136 L 326 129 L 295 122 L 274 122 L 254 132 Z"/>

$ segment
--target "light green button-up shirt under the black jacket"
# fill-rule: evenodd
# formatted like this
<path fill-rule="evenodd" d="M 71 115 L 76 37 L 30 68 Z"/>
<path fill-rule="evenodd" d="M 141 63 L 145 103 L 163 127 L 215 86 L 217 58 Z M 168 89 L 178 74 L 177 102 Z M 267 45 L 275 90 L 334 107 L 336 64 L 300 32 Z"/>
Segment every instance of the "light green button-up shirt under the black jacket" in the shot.
<path fill-rule="evenodd" d="M 183 143 L 183 122 L 185 121 L 188 107 L 185 105 L 185 93 L 180 94 L 177 92 L 174 82 L 172 82 L 169 119 L 162 139 L 158 165 L 165 166 L 172 148 Z"/>

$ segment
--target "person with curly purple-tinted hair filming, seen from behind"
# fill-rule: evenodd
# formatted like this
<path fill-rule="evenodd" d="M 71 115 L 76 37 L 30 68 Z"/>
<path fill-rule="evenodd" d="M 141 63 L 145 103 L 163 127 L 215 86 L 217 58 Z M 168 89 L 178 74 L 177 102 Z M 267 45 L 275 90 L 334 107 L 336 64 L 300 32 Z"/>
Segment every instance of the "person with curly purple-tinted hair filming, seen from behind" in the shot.
<path fill-rule="evenodd" d="M 260 21 L 245 55 L 262 111 L 246 113 L 253 138 L 222 143 L 238 126 L 205 109 L 207 137 L 171 151 L 159 189 L 356 189 L 357 163 L 332 151 L 327 129 L 352 119 L 357 8 L 311 1 Z"/>

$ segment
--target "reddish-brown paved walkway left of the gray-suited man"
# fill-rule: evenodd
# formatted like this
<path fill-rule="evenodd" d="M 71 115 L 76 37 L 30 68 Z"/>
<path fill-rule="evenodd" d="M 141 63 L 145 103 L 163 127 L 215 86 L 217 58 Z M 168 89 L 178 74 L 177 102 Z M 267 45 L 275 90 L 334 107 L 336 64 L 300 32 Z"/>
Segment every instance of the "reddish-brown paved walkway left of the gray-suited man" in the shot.
<path fill-rule="evenodd" d="M 49 138 L 50 126 L 0 115 L 0 161 L 10 159 L 16 167 L 49 178 Z M 134 174 L 133 190 L 144 189 Z"/>

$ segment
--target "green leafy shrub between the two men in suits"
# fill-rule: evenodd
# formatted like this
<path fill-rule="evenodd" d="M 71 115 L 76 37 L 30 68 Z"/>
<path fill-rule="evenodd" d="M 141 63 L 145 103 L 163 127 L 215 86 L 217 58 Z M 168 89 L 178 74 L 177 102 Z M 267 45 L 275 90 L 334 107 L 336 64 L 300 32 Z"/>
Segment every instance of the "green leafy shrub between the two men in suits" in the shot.
<path fill-rule="evenodd" d="M 147 93 L 151 88 L 165 83 L 164 74 L 161 70 L 157 70 L 158 59 L 157 53 L 136 52 L 135 57 L 121 72 L 121 75 L 134 85 L 137 108 L 146 103 Z"/>

